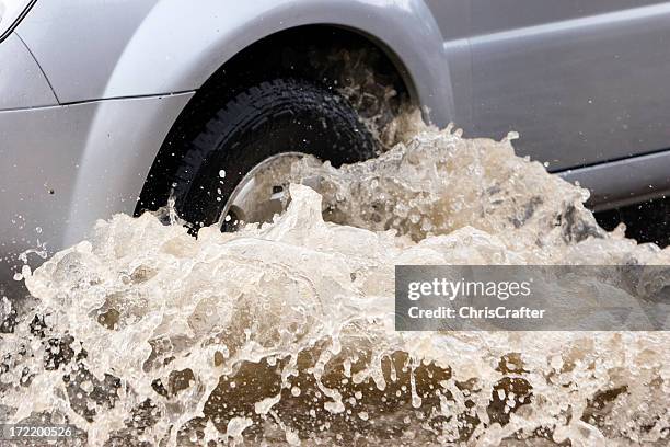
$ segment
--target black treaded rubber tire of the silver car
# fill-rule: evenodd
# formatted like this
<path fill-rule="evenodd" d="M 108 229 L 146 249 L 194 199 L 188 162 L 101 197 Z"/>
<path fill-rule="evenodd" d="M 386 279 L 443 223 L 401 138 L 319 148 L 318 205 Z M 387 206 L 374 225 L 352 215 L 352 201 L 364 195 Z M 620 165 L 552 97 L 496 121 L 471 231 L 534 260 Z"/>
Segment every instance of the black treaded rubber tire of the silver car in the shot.
<path fill-rule="evenodd" d="M 175 207 L 197 231 L 217 222 L 244 175 L 274 154 L 304 152 L 337 167 L 368 159 L 374 148 L 343 96 L 302 80 L 263 82 L 238 93 L 186 142 L 172 182 Z"/>

